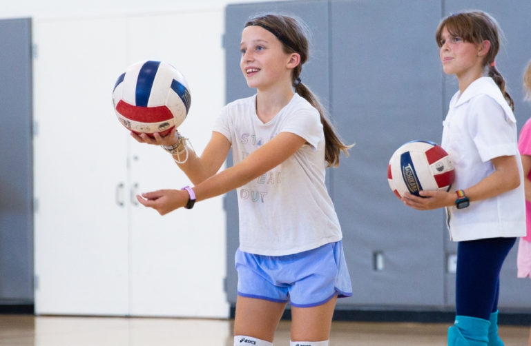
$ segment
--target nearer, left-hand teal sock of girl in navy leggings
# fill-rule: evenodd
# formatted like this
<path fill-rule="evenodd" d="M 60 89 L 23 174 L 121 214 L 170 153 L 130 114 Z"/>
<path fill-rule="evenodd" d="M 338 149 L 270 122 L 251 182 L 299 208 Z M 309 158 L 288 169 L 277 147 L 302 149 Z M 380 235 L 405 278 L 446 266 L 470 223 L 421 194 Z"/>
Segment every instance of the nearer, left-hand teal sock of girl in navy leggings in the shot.
<path fill-rule="evenodd" d="M 448 346 L 487 346 L 490 321 L 471 316 L 456 316 L 448 329 Z"/>

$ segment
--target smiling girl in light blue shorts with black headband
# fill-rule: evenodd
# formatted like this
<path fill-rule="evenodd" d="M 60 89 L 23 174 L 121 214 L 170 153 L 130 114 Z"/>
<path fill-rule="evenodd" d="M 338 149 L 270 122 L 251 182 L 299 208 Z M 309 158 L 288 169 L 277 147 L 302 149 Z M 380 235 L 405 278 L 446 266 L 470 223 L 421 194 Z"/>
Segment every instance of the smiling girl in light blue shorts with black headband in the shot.
<path fill-rule="evenodd" d="M 302 22 L 273 14 L 245 24 L 240 67 L 256 94 L 222 109 L 201 156 L 175 130 L 154 139 L 131 134 L 163 145 L 195 184 L 137 196 L 146 207 L 166 214 L 238 190 L 234 345 L 272 345 L 289 302 L 291 345 L 326 346 L 336 299 L 352 292 L 325 186 L 325 168 L 337 166 L 349 145 L 299 79 L 308 59 L 305 32 Z M 218 172 L 231 147 L 233 167 Z"/>

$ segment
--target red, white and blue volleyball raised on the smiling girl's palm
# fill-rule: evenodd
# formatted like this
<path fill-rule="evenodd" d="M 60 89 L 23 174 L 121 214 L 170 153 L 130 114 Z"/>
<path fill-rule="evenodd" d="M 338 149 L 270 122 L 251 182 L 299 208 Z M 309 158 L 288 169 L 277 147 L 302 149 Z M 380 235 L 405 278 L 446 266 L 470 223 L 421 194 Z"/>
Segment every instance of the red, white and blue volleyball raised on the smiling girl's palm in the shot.
<path fill-rule="evenodd" d="M 113 105 L 122 125 L 136 134 L 162 136 L 182 124 L 191 95 L 181 72 L 163 61 L 139 61 L 120 74 Z"/>

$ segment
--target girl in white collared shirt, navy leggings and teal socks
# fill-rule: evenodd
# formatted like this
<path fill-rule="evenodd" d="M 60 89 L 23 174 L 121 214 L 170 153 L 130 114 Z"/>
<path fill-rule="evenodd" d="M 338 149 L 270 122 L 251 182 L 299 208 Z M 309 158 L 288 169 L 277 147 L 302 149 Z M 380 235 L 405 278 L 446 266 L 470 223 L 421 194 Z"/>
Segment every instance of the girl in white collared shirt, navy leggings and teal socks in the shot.
<path fill-rule="evenodd" d="M 455 191 L 405 194 L 418 210 L 445 207 L 457 246 L 456 319 L 448 345 L 503 345 L 497 332 L 499 273 L 525 235 L 523 170 L 513 102 L 496 69 L 499 26 L 485 12 L 444 18 L 436 31 L 443 70 L 459 90 L 443 121 L 442 147 L 455 165 Z"/>

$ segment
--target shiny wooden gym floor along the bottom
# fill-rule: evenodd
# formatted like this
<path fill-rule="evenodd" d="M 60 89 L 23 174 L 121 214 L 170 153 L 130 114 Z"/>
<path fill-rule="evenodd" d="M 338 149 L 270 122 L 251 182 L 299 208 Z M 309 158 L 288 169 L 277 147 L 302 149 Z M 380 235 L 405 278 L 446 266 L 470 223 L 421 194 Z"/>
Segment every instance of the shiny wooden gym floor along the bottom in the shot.
<path fill-rule="evenodd" d="M 447 345 L 447 324 L 334 322 L 331 346 Z M 1 346 L 232 346 L 231 320 L 0 315 Z M 505 346 L 527 346 L 529 328 L 504 326 Z M 275 346 L 289 345 L 289 321 Z"/>

